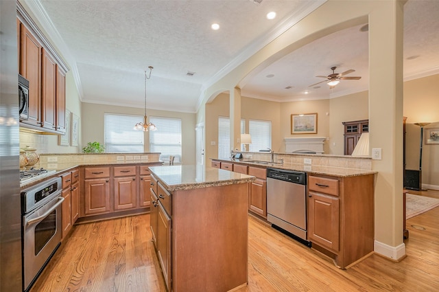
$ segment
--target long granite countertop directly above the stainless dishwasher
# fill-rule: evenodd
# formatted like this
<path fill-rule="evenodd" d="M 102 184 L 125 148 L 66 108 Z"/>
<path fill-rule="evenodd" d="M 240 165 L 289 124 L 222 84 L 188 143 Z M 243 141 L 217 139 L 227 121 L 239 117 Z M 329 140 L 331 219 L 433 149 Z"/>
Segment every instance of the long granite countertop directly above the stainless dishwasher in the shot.
<path fill-rule="evenodd" d="M 250 162 L 237 159 L 212 159 L 215 161 L 230 162 L 233 164 L 245 164 L 248 166 L 258 166 L 262 168 L 278 168 L 285 170 L 296 170 L 308 172 L 316 175 L 332 175 L 334 177 L 356 177 L 359 175 L 375 175 L 377 172 L 373 170 L 360 170 L 355 168 L 337 168 L 331 166 L 310 166 L 306 164 L 290 164 L 290 163 L 272 163 L 270 161 L 262 161 L 262 163 Z"/>

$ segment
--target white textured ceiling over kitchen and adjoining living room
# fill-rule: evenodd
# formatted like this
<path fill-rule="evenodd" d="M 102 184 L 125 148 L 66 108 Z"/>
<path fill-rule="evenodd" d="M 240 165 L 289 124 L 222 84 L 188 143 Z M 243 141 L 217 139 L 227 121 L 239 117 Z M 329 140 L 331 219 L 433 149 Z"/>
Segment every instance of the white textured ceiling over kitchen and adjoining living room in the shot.
<path fill-rule="evenodd" d="M 322 1 L 25 1 L 72 66 L 82 101 L 143 107 L 143 71 L 154 66 L 147 83 L 151 109 L 195 112 L 202 89 L 233 69 L 276 33 L 293 25 Z M 276 11 L 269 21 L 265 14 Z M 439 1 L 405 5 L 405 78 L 439 71 Z M 45 20 L 46 22 L 44 22 Z M 213 31 L 210 26 L 221 26 Z M 43 24 L 44 25 L 44 24 Z M 340 96 L 368 88 L 368 33 L 351 27 L 296 49 L 257 68 L 241 84 L 242 94 L 289 101 Z M 334 89 L 323 82 L 355 69 Z M 192 77 L 188 71 L 195 72 Z M 257 72 L 257 73 L 256 73 Z M 267 78 L 269 74 L 274 75 Z M 285 89 L 291 86 L 292 89 Z M 306 89 L 310 93 L 305 96 Z"/>

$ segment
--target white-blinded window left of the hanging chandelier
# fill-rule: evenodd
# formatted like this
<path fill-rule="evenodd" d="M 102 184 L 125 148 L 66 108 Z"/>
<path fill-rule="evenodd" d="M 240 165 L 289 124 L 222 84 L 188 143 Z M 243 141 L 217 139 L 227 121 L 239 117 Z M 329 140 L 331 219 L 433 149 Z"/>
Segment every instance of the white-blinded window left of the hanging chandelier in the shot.
<path fill-rule="evenodd" d="M 143 120 L 141 115 L 104 113 L 104 145 L 106 153 L 142 153 L 143 131 L 134 125 Z"/>

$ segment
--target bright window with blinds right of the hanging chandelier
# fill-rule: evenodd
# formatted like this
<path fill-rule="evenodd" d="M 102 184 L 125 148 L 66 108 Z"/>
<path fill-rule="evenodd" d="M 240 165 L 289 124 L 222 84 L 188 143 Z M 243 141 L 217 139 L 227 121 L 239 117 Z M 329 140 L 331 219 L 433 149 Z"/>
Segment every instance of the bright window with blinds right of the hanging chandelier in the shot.
<path fill-rule="evenodd" d="M 150 131 L 150 151 L 160 152 L 160 159 L 169 161 L 169 155 L 175 156 L 174 163 L 181 163 L 181 119 L 171 117 L 150 117 L 157 131 Z"/>

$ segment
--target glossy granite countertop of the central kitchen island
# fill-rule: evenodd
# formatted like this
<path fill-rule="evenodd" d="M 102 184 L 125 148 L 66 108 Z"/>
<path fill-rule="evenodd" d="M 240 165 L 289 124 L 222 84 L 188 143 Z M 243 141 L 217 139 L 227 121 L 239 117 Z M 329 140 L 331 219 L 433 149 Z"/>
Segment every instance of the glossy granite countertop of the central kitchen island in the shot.
<path fill-rule="evenodd" d="M 150 170 L 169 192 L 248 183 L 256 179 L 250 175 L 206 166 L 152 166 Z"/>

